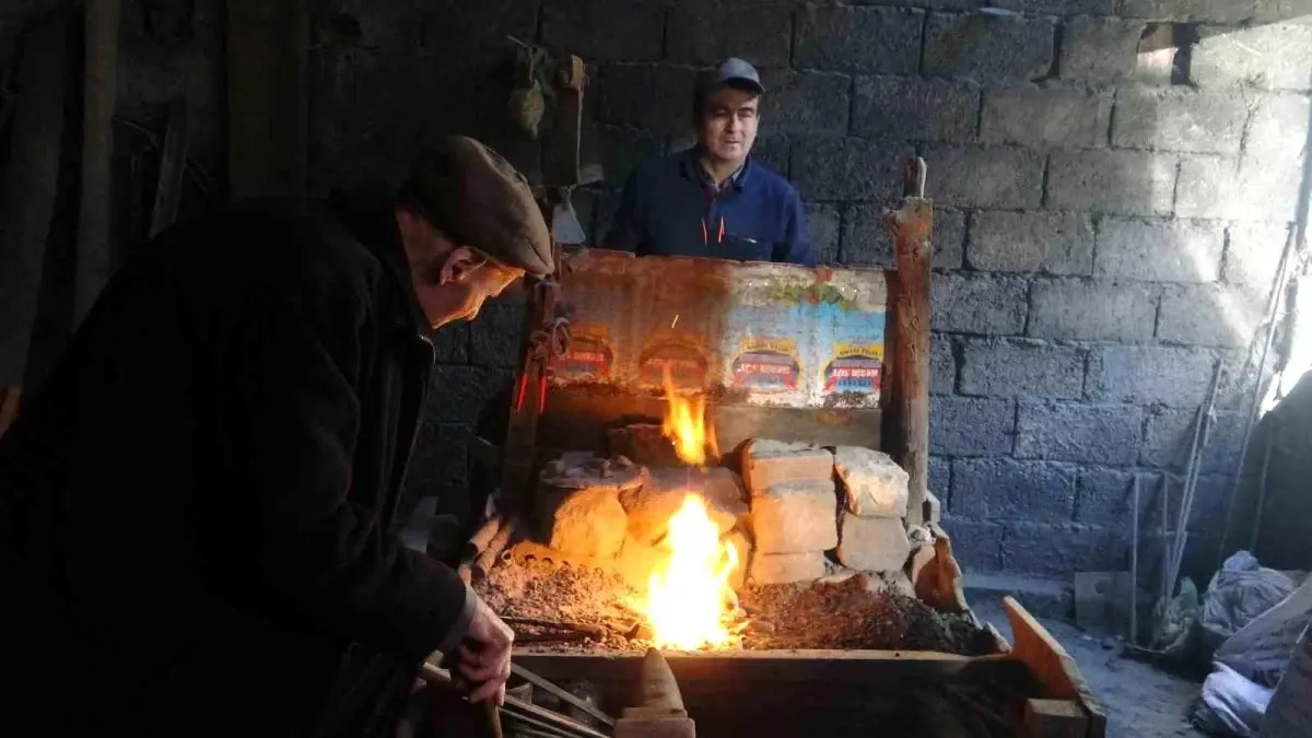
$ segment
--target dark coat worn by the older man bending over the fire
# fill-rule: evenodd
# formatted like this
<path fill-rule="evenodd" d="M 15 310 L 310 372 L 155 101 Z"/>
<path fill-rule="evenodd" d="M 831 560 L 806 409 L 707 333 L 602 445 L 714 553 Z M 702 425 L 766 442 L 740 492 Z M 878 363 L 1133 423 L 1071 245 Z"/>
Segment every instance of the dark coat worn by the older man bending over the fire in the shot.
<path fill-rule="evenodd" d="M 143 247 L 0 441 L 0 725 L 386 731 L 474 601 L 394 534 L 425 332 L 382 193 Z"/>

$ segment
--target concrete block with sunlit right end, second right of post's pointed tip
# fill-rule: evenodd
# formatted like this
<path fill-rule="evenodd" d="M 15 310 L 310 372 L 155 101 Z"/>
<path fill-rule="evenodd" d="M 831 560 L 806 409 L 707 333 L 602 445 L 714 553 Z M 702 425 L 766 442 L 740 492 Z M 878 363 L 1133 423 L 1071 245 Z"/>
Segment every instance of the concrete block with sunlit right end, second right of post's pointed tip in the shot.
<path fill-rule="evenodd" d="M 1141 151 L 1056 151 L 1047 207 L 1118 215 L 1165 215 L 1178 159 Z"/>

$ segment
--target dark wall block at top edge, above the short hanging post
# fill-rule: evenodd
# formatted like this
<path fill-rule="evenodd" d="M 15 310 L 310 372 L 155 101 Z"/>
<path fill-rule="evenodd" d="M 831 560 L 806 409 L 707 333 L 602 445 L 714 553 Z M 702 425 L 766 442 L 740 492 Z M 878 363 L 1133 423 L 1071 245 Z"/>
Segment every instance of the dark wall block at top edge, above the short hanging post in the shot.
<path fill-rule="evenodd" d="M 648 62 L 661 58 L 665 11 L 643 0 L 547 0 L 542 43 L 590 62 Z"/>

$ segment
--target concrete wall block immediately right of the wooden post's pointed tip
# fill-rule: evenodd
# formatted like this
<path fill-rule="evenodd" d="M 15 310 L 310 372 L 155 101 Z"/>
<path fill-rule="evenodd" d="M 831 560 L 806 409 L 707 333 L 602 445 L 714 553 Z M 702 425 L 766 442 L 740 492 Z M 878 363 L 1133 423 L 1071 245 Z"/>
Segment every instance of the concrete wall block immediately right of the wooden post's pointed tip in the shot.
<path fill-rule="evenodd" d="M 959 207 L 1038 207 L 1043 155 L 1002 146 L 935 146 L 925 151 L 926 197 Z"/>

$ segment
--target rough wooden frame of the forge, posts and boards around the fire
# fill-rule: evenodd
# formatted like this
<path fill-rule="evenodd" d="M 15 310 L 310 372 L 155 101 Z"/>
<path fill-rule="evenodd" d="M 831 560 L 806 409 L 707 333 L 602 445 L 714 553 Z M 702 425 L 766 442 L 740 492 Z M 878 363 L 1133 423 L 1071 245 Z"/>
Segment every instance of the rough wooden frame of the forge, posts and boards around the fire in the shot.
<path fill-rule="evenodd" d="M 917 599 L 943 612 L 968 613 L 977 622 L 962 591 L 951 541 L 938 525 L 937 500 L 928 490 L 933 217 L 932 202 L 922 197 L 924 167 L 922 160 L 908 163 L 908 197 L 886 221 L 893 235 L 897 269 L 883 272 L 892 345 L 880 355 L 884 382 L 878 403 L 816 402 L 813 394 L 782 403 L 791 407 L 724 403 L 716 404 L 712 424 L 724 446 L 743 437 L 769 435 L 785 441 L 866 445 L 890 452 L 911 478 L 907 524 L 925 525 L 934 537 L 934 555 L 914 580 Z M 795 268 L 783 268 L 789 269 Z M 830 277 L 827 269 L 813 272 L 815 285 L 828 284 Z M 538 331 L 541 349 L 541 327 L 555 319 L 555 293 L 538 301 L 530 314 L 530 335 Z M 583 332 L 579 337 L 586 341 L 596 336 Z M 598 351 L 596 344 L 589 349 L 604 358 L 609 351 Z M 485 465 L 502 471 L 512 520 L 525 519 L 533 510 L 531 485 L 526 481 L 556 452 L 567 450 L 559 448 L 562 440 L 568 439 L 568 450 L 605 452 L 607 422 L 625 415 L 659 418 L 663 404 L 656 395 L 643 393 L 576 391 L 569 382 L 548 381 L 546 364 L 534 362 L 534 356 L 530 340 L 530 360 L 509 408 L 512 433 L 505 449 L 484 449 L 489 453 L 483 454 Z M 530 398 L 525 407 L 523 389 L 539 383 L 541 395 Z M 510 525 L 501 529 L 509 531 Z M 502 548 L 505 544 L 501 541 Z M 487 559 L 475 567 L 485 571 L 495 565 L 495 559 Z M 992 689 L 1002 695 L 1000 704 L 1009 718 L 988 714 L 987 708 L 972 706 L 964 697 L 967 708 L 992 721 L 1005 720 L 1022 734 L 1102 738 L 1106 717 L 1073 659 L 1015 600 L 1006 597 L 1004 604 L 1015 643 L 981 624 L 996 646 L 994 653 L 983 657 L 907 650 L 718 650 L 668 653 L 666 659 L 691 717 L 714 735 L 865 734 L 871 727 L 888 727 L 890 716 L 905 712 L 908 700 L 928 700 L 920 710 L 925 717 L 935 710 L 934 700 L 951 706 L 943 700 L 953 695 Z M 547 679 L 589 685 L 602 706 L 627 704 L 642 663 L 640 654 L 544 653 L 541 646 L 517 650 L 514 659 Z M 938 733 L 930 729 L 928 734 Z"/>

